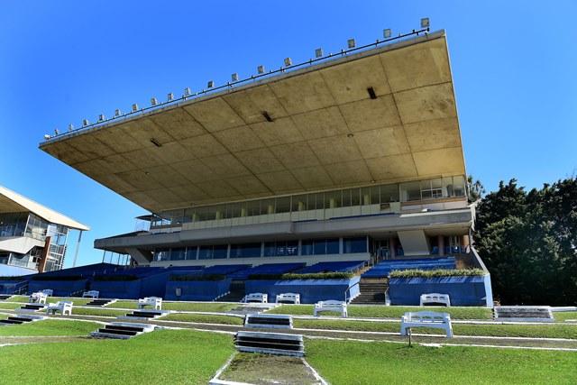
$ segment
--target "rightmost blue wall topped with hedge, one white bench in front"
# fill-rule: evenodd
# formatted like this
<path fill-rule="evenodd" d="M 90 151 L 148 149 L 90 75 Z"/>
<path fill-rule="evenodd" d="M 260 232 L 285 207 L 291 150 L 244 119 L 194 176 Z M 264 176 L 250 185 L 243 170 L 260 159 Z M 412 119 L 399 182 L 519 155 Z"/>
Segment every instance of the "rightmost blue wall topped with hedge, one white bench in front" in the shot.
<path fill-rule="evenodd" d="M 424 293 L 448 294 L 451 305 L 455 307 L 492 306 L 493 301 L 489 275 L 389 280 L 391 305 L 418 306 L 419 298 Z"/>

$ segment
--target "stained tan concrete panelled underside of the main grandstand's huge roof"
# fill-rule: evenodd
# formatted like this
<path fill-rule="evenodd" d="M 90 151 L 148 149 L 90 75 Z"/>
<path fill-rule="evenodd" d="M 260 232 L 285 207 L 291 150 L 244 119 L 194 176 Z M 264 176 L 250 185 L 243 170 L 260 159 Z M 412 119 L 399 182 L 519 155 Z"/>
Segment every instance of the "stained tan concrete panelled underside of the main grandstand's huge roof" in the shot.
<path fill-rule="evenodd" d="M 444 32 L 166 105 L 40 147 L 152 212 L 373 180 L 465 175 Z"/>

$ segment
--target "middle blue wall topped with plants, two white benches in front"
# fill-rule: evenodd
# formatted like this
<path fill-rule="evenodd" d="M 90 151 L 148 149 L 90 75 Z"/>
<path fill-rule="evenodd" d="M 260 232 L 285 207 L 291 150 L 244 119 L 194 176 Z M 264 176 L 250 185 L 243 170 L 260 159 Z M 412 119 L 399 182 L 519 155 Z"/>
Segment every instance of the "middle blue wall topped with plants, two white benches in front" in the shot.
<path fill-rule="evenodd" d="M 266 293 L 269 302 L 274 302 L 278 294 L 300 294 L 301 304 L 314 304 L 318 301 L 335 299 L 344 300 L 344 291 L 357 283 L 361 277 L 351 280 L 247 280 L 245 283 L 246 294 Z M 351 289 L 351 296 L 359 292 L 359 285 Z"/>

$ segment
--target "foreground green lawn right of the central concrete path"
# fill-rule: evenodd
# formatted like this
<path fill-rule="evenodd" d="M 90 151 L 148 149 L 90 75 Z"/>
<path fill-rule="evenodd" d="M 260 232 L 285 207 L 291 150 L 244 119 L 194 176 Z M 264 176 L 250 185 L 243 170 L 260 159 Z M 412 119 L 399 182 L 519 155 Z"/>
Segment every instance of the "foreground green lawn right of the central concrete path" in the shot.
<path fill-rule="evenodd" d="M 333 384 L 574 384 L 574 352 L 308 340 L 307 362 Z"/>

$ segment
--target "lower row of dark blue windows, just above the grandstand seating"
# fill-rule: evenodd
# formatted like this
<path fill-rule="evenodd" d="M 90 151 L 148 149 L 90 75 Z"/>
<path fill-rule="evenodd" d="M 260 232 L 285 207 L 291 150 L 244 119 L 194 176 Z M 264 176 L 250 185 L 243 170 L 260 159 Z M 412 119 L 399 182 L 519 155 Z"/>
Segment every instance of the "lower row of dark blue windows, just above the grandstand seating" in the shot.
<path fill-rule="evenodd" d="M 368 252 L 367 237 L 162 248 L 154 251 L 154 261 L 291 257 L 298 255 L 339 254 L 341 251 L 345 254 Z"/>

